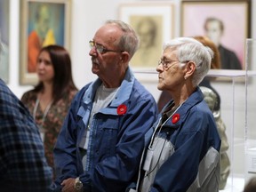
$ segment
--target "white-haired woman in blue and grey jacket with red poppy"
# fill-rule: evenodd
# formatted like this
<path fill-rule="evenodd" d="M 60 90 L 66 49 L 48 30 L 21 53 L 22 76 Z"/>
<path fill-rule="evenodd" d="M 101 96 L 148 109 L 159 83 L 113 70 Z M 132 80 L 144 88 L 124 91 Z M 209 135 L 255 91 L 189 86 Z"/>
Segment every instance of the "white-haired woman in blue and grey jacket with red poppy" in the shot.
<path fill-rule="evenodd" d="M 130 191 L 219 191 L 220 137 L 198 87 L 212 56 L 212 50 L 194 38 L 164 44 L 157 88 L 173 99 L 146 135 L 139 179 Z"/>

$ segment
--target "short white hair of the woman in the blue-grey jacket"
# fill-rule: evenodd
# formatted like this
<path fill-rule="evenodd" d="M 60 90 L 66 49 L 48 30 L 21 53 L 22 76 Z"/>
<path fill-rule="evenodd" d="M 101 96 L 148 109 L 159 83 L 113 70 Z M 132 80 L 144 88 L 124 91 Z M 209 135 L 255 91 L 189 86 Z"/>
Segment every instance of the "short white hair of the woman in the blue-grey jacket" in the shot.
<path fill-rule="evenodd" d="M 196 70 L 192 79 L 194 86 L 200 84 L 204 76 L 211 68 L 213 58 L 212 49 L 204 46 L 192 37 L 174 38 L 164 44 L 163 49 L 173 48 L 177 51 L 177 58 L 180 60 L 180 68 L 184 67 L 188 61 L 193 61 L 196 64 Z"/>

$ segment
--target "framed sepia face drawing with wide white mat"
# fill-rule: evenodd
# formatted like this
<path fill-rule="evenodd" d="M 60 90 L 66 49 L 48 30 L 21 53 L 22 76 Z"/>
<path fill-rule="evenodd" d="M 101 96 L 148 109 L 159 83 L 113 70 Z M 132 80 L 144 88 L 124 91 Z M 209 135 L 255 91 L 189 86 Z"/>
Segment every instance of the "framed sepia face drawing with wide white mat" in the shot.
<path fill-rule="evenodd" d="M 119 20 L 129 23 L 140 36 L 140 47 L 130 61 L 133 71 L 156 71 L 164 41 L 174 36 L 174 4 L 120 4 L 118 11 Z"/>

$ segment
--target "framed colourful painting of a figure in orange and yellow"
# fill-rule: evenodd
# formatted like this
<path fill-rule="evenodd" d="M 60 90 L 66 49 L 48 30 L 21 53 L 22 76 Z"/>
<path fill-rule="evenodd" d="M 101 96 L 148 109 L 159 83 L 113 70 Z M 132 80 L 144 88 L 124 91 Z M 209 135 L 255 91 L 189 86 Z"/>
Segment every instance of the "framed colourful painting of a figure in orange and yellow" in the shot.
<path fill-rule="evenodd" d="M 36 84 L 36 60 L 42 47 L 69 48 L 70 0 L 21 0 L 20 84 Z"/>

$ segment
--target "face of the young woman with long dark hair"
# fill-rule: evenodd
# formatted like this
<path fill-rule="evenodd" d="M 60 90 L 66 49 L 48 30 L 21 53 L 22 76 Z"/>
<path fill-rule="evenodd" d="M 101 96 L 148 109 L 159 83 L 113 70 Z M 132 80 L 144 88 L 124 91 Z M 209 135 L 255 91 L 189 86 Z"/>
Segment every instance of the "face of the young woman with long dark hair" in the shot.
<path fill-rule="evenodd" d="M 48 52 L 41 52 L 37 58 L 36 73 L 40 81 L 52 82 L 54 77 L 54 68 Z"/>

